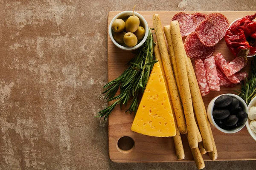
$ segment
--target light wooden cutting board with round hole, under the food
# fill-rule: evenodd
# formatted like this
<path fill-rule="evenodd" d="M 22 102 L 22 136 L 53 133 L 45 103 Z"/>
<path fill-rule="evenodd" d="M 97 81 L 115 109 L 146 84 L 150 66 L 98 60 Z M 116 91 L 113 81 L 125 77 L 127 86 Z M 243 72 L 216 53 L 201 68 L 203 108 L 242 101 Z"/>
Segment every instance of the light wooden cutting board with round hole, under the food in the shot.
<path fill-rule="evenodd" d="M 111 11 L 108 14 L 108 26 L 113 17 L 121 11 Z M 148 26 L 153 28 L 152 16 L 153 14 L 160 14 L 162 26 L 169 25 L 172 17 L 179 11 L 137 11 L 148 22 Z M 190 14 L 196 11 L 186 11 Z M 244 17 L 249 14 L 255 14 L 256 11 L 198 11 L 205 14 L 212 12 L 220 12 L 224 14 L 228 20 L 233 22 L 237 18 Z M 154 41 L 156 37 L 154 36 Z M 217 45 L 213 55 L 220 52 L 227 59 L 231 61 L 234 57 L 227 48 L 225 41 L 221 40 Z M 129 51 L 122 51 L 117 48 L 111 41 L 108 35 L 108 82 L 119 77 L 127 68 L 125 65 L 134 54 Z M 249 71 L 250 59 L 246 68 L 242 71 Z M 208 103 L 220 94 L 233 93 L 234 90 L 240 89 L 240 85 L 234 88 L 221 88 L 221 91 L 211 91 L 210 94 L 204 96 L 205 107 Z M 118 92 L 119 93 L 119 92 Z M 111 105 L 113 102 L 109 102 Z M 175 148 L 172 137 L 151 137 L 131 131 L 131 125 L 134 119 L 134 114 L 125 113 L 126 109 L 120 109 L 117 106 L 108 118 L 108 138 L 109 138 L 109 156 L 115 162 L 166 162 L 178 161 L 175 155 Z M 234 134 L 226 134 L 217 130 L 212 126 L 212 133 L 215 139 L 218 150 L 218 161 L 226 160 L 254 160 L 256 159 L 256 141 L 248 133 L 246 127 Z M 122 138 L 129 136 L 130 138 Z M 132 144 L 133 139 L 134 146 Z M 119 141 L 119 142 L 118 142 Z M 182 135 L 183 146 L 185 150 L 185 159 L 181 161 L 193 161 L 192 153 L 189 148 L 185 135 Z M 131 150 L 127 150 L 128 147 Z M 126 147 L 126 149 L 125 149 Z M 122 148 L 122 149 L 120 149 Z M 203 155 L 204 160 L 210 160 L 208 154 Z"/>

